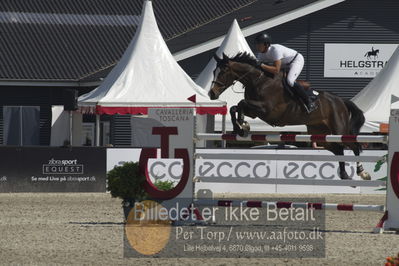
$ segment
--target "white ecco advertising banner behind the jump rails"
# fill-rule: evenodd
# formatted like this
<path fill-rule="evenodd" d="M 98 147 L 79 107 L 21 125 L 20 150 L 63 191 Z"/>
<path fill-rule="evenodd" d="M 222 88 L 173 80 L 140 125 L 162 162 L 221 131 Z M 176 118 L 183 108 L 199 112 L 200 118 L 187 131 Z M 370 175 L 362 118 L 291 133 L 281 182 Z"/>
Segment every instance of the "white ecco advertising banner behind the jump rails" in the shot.
<path fill-rule="evenodd" d="M 199 149 L 201 152 L 212 152 L 211 149 Z M 137 161 L 140 149 L 108 149 L 107 170 L 126 161 Z M 303 179 L 303 180 L 339 180 L 338 162 L 318 161 L 276 161 L 276 160 L 246 160 L 245 154 L 291 154 L 291 155 L 332 155 L 326 150 L 259 150 L 259 149 L 219 149 L 218 153 L 234 154 L 243 153 L 242 160 L 217 160 L 200 159 L 195 160 L 195 175 L 211 177 L 215 183 L 197 182 L 195 189 L 210 189 L 214 193 L 351 193 L 351 194 L 384 194 L 385 191 L 375 187 L 344 187 L 344 186 L 320 186 L 320 185 L 275 185 L 275 184 L 245 184 L 240 183 L 218 183 L 218 178 L 240 178 L 242 181 L 248 179 Z M 363 156 L 383 156 L 387 151 L 365 150 Z M 351 151 L 345 151 L 345 155 L 353 155 Z M 261 156 L 261 155 L 260 155 Z M 360 180 L 356 175 L 356 163 L 346 162 L 346 171 L 349 177 Z M 364 162 L 364 169 L 371 174 L 372 180 L 384 178 L 387 173 L 387 165 L 384 163 L 378 171 L 375 170 L 376 163 Z M 149 162 L 149 175 L 152 180 L 179 181 L 182 172 L 181 162 L 164 161 L 160 164 L 157 160 Z"/>

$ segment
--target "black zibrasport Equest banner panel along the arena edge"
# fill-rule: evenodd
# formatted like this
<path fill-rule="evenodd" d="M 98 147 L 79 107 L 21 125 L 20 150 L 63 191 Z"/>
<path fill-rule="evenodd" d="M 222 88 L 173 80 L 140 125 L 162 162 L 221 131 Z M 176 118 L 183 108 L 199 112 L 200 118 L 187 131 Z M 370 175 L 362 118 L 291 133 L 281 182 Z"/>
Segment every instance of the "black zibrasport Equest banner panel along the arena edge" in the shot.
<path fill-rule="evenodd" d="M 0 148 L 0 192 L 105 191 L 105 148 Z"/>

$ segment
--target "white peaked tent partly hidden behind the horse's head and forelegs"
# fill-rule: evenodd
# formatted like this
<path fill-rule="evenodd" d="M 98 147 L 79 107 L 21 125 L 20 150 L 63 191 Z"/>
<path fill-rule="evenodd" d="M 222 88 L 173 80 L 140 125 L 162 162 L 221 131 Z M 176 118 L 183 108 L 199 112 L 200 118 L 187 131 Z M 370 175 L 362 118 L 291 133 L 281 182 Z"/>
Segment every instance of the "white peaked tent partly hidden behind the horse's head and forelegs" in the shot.
<path fill-rule="evenodd" d="M 251 48 L 249 47 L 244 35 L 242 34 L 240 27 L 236 20 L 233 21 L 230 29 L 224 38 L 219 49 L 216 51 L 218 57 L 222 57 L 223 53 L 229 57 L 233 57 L 240 52 L 247 52 L 254 56 Z M 214 79 L 213 72 L 216 68 L 215 59 L 211 59 L 205 69 L 201 72 L 195 82 L 209 91 Z M 225 92 L 220 95 L 220 100 L 226 101 L 228 108 L 237 105 L 242 99 L 244 99 L 244 89 L 241 83 L 237 82 L 232 87 L 225 90 Z M 287 127 L 272 127 L 260 119 L 252 119 L 249 117 L 245 118 L 246 121 L 251 125 L 251 131 L 306 131 L 305 126 L 287 126 Z M 222 129 L 222 117 L 215 117 L 215 130 Z M 226 119 L 226 130 L 232 130 L 232 124 L 230 116 Z"/>

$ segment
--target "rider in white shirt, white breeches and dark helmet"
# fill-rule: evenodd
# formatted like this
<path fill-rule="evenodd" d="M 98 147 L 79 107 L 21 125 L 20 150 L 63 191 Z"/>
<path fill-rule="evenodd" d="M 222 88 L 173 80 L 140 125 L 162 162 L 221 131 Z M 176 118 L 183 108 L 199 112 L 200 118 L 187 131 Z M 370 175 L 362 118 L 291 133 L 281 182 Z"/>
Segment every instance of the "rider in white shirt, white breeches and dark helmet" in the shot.
<path fill-rule="evenodd" d="M 258 50 L 257 58 L 260 61 L 260 67 L 272 74 L 278 74 L 281 68 L 288 69 L 287 83 L 295 89 L 299 97 L 305 103 L 308 113 L 316 109 L 316 105 L 309 99 L 305 89 L 296 82 L 297 77 L 301 74 L 305 60 L 297 51 L 285 47 L 280 44 L 271 44 L 272 40 L 267 33 L 261 33 L 255 38 L 256 49 Z M 266 65 L 263 63 L 271 63 Z"/>

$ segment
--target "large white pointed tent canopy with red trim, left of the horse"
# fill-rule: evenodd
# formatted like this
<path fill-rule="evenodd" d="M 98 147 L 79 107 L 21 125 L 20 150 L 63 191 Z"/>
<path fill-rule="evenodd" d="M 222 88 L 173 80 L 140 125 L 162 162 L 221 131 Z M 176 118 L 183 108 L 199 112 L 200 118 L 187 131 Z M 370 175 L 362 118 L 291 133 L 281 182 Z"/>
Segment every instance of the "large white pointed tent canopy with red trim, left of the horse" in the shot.
<path fill-rule="evenodd" d="M 187 98 L 196 95 L 196 103 Z M 102 84 L 79 98 L 98 114 L 146 114 L 149 107 L 196 107 L 197 114 L 226 112 L 184 72 L 157 26 L 151 1 L 144 2 L 136 34 Z"/>

